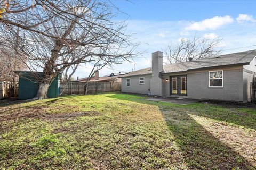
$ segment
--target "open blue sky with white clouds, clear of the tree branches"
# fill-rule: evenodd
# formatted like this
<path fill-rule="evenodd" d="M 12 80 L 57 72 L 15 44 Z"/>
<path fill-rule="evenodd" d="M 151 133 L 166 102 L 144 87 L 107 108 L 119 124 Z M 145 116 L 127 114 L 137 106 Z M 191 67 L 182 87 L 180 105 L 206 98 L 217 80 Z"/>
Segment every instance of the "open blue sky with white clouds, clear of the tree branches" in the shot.
<path fill-rule="evenodd" d="M 100 76 L 150 67 L 152 52 L 163 51 L 168 44 L 195 34 L 222 38 L 222 54 L 256 49 L 256 1 L 120 0 L 113 4 L 128 14 L 118 15 L 116 20 L 127 19 L 127 32 L 134 33 L 135 40 L 141 42 L 138 50 L 147 53 L 132 63 L 114 65 L 114 70 L 102 69 Z M 74 77 L 86 77 L 89 70 L 89 64 L 80 66 Z"/>

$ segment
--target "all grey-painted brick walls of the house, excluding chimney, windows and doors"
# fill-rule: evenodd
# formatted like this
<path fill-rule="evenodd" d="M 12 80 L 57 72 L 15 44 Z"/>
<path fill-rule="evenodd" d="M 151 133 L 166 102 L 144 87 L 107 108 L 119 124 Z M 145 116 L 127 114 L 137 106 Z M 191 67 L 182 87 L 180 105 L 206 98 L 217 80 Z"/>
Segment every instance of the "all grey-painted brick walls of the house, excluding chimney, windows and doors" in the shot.
<path fill-rule="evenodd" d="M 253 64 L 253 63 L 252 63 Z M 249 65 L 246 65 L 247 68 Z M 251 68 L 254 68 L 251 66 Z M 209 87 L 209 71 L 223 70 L 223 87 Z M 243 66 L 223 67 L 187 73 L 170 73 L 162 75 L 162 96 L 170 95 L 170 76 L 187 74 L 187 97 L 195 99 L 212 99 L 227 101 L 250 100 L 250 83 L 253 72 Z M 139 78 L 145 78 L 145 84 L 139 84 Z M 130 78 L 130 87 L 126 87 L 126 78 Z M 166 81 L 166 79 L 168 79 Z M 151 75 L 136 75 L 122 78 L 122 92 L 148 94 Z"/>

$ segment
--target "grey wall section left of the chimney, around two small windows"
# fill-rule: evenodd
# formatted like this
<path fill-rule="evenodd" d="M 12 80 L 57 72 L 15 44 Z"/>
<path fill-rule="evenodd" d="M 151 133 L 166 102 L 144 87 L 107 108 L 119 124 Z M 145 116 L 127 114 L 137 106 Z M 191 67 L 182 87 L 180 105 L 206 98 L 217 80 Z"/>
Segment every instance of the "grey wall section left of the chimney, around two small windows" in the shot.
<path fill-rule="evenodd" d="M 140 77 L 144 77 L 144 84 L 140 84 Z M 130 86 L 126 86 L 126 79 L 130 78 Z M 150 89 L 151 75 L 138 75 L 131 77 L 123 77 L 121 83 L 122 92 L 131 92 L 137 94 L 148 94 Z"/>

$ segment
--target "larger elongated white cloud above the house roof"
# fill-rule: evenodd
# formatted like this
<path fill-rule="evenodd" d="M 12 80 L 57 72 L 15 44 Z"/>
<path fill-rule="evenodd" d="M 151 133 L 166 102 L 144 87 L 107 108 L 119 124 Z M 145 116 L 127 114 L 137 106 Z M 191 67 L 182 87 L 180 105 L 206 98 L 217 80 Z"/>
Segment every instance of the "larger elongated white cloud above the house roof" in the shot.
<path fill-rule="evenodd" d="M 215 16 L 213 18 L 208 18 L 203 21 L 194 22 L 191 25 L 188 25 L 188 27 L 185 28 L 185 30 L 195 30 L 195 31 L 203 31 L 203 30 L 211 30 L 211 29 L 217 29 L 221 27 L 222 25 L 229 24 L 233 22 L 233 18 L 231 16 Z"/>

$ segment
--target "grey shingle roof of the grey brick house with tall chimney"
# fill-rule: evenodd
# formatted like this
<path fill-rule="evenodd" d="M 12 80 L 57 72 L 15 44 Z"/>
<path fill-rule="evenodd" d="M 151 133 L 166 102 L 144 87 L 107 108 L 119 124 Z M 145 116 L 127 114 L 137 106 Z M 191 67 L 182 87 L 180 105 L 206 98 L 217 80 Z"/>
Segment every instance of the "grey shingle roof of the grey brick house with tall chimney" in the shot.
<path fill-rule="evenodd" d="M 249 50 L 245 52 L 225 54 L 217 57 L 203 58 L 193 61 L 174 63 L 163 65 L 162 73 L 174 73 L 174 72 L 185 72 L 188 70 L 196 69 L 206 69 L 209 67 L 219 67 L 219 66 L 231 66 L 231 65 L 247 65 L 256 56 L 256 50 Z M 133 76 L 133 75 L 143 75 L 151 74 L 151 67 L 146 69 L 140 69 L 137 71 L 125 74 L 123 77 Z"/>

